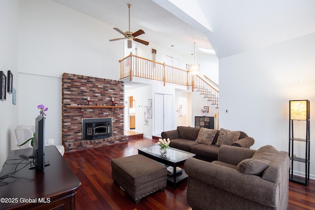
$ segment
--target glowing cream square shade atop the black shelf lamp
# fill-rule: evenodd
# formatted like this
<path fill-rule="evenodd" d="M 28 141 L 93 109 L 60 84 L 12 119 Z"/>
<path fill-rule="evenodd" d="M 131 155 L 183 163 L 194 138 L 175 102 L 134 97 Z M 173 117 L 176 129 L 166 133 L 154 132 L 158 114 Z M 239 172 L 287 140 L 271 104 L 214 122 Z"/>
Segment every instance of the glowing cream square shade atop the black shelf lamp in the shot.
<path fill-rule="evenodd" d="M 307 101 L 290 101 L 290 120 L 307 120 Z"/>

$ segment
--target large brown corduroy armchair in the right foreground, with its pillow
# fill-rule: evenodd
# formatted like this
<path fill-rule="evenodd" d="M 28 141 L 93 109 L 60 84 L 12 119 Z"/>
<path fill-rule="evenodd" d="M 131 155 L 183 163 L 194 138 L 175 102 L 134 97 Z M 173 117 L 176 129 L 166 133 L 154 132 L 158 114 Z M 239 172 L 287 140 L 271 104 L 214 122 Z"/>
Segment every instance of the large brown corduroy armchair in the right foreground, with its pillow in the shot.
<path fill-rule="evenodd" d="M 265 159 L 264 159 L 265 158 Z M 189 158 L 187 200 L 193 210 L 286 210 L 289 156 L 267 145 L 259 150 L 221 146 L 218 161 Z"/>

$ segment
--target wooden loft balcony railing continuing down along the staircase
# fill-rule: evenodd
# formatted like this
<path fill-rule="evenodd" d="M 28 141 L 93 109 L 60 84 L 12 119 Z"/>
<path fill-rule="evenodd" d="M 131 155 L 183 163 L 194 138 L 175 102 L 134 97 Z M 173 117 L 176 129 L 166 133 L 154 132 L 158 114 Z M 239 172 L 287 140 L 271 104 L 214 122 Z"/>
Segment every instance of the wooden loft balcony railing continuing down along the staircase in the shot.
<path fill-rule="evenodd" d="M 187 86 L 187 89 L 191 86 L 192 91 L 200 91 L 200 94 L 219 108 L 219 91 L 198 75 L 191 75 L 188 70 L 134 56 L 132 53 L 119 62 L 120 79 L 129 77 L 132 81 L 133 77 L 140 77 L 163 82 L 164 86 L 166 83 Z"/>

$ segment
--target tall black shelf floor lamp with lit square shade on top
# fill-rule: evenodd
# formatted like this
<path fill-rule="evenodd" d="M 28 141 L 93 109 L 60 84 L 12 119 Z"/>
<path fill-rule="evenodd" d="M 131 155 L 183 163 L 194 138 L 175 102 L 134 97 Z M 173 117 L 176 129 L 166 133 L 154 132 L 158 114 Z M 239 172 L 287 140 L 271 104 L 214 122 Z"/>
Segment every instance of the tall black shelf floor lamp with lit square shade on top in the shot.
<path fill-rule="evenodd" d="M 290 171 L 289 180 L 295 183 L 307 186 L 310 180 L 310 101 L 309 100 L 291 100 L 289 101 L 289 157 Z M 298 121 L 305 121 L 305 138 L 294 137 L 294 125 Z M 294 153 L 294 145 L 305 145 L 304 157 L 297 157 Z M 296 162 L 305 164 L 305 176 L 296 176 L 293 174 L 293 166 Z"/>

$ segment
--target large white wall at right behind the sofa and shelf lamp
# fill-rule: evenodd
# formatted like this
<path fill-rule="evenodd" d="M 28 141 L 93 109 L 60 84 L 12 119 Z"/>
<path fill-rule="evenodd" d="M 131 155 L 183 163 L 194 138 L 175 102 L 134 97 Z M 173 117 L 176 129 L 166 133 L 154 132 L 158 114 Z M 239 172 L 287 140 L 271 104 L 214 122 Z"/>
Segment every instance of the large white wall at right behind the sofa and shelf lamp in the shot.
<path fill-rule="evenodd" d="M 288 151 L 289 100 L 309 99 L 312 141 L 314 58 L 315 33 L 220 59 L 220 110 L 230 110 L 221 112 L 220 126 L 253 137 L 252 149 L 270 144 Z M 311 162 L 314 151 L 311 144 Z M 315 179 L 314 167 L 311 174 Z"/>

